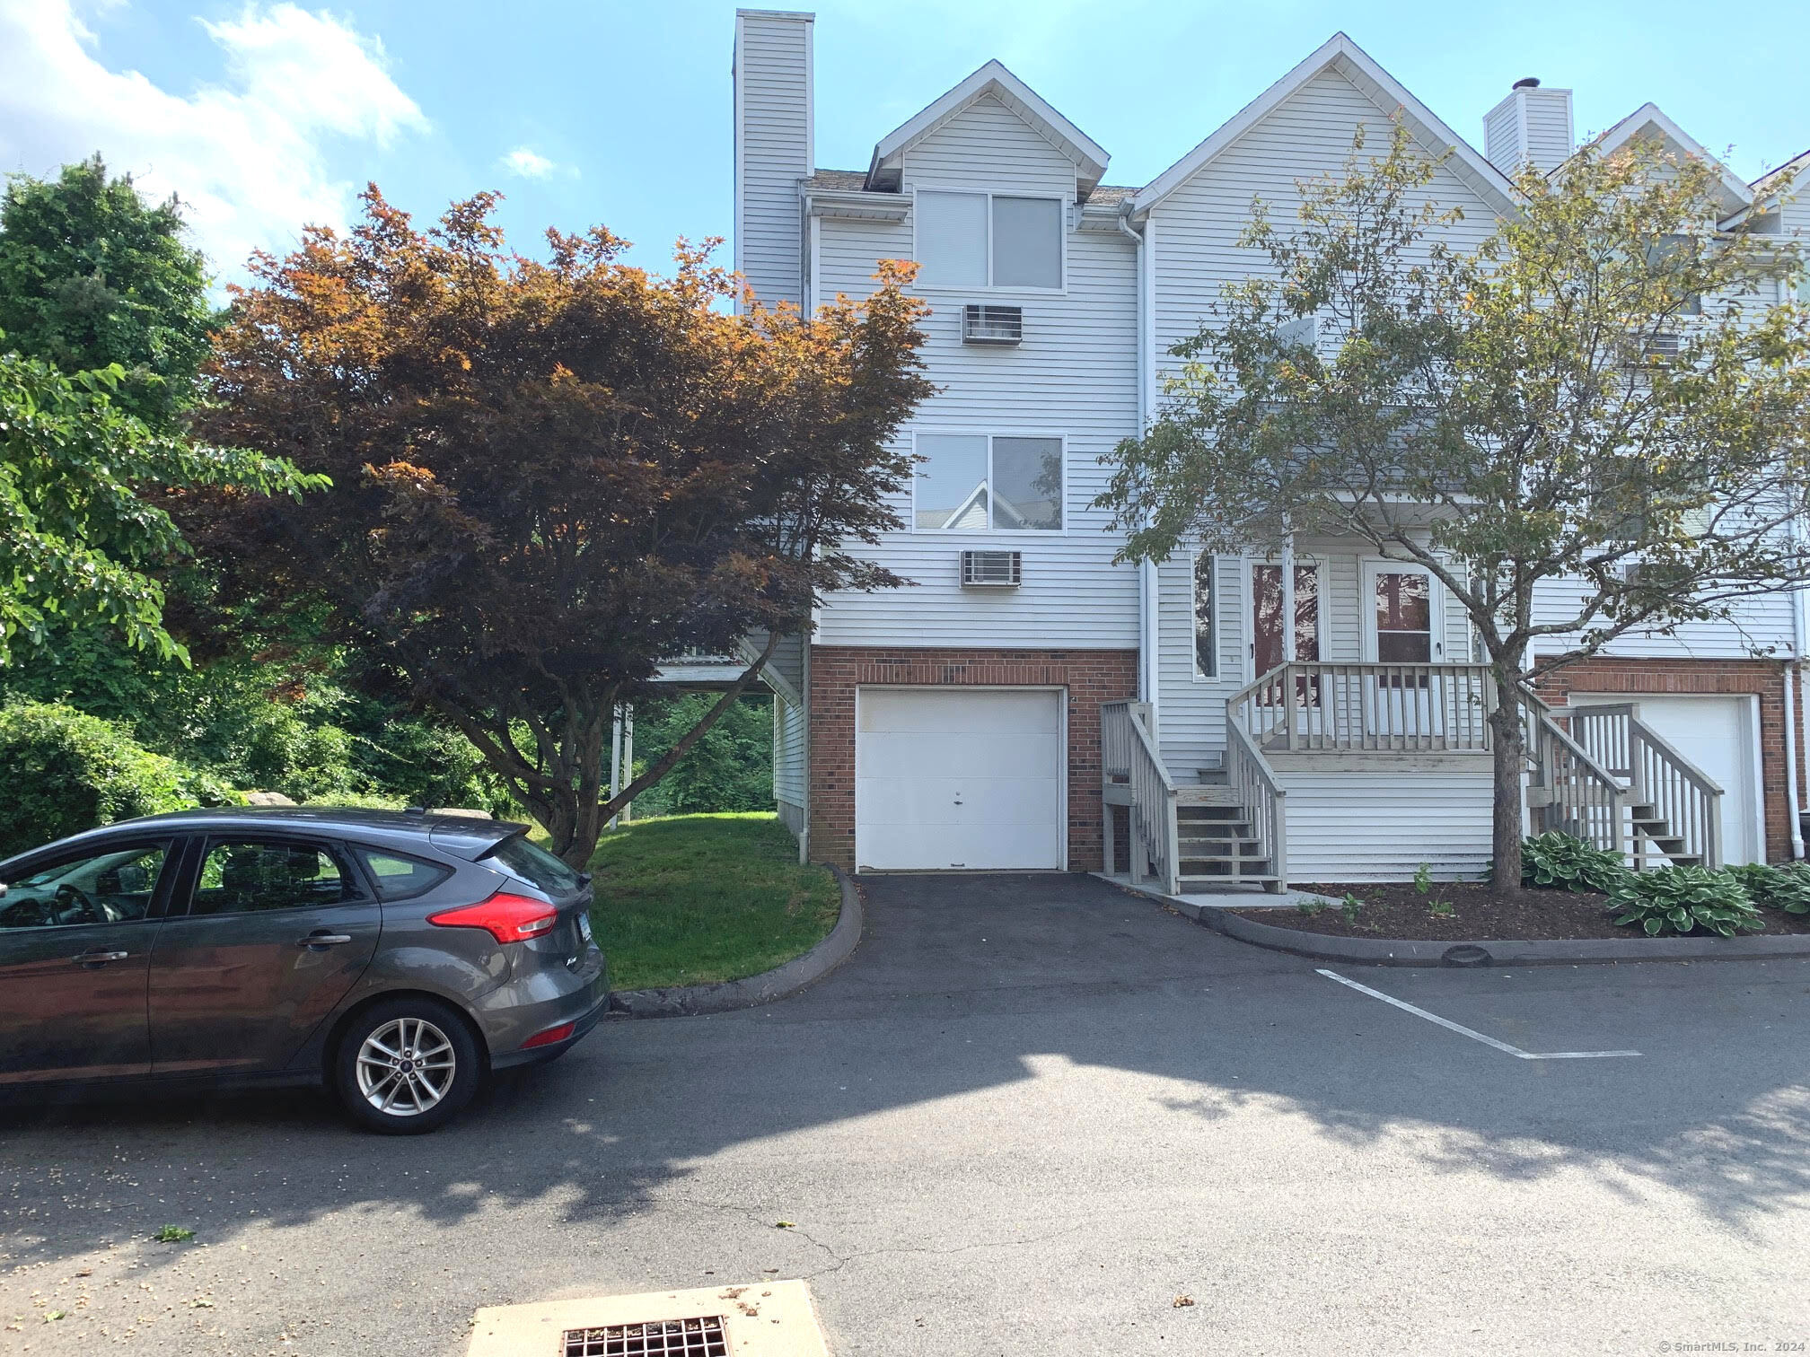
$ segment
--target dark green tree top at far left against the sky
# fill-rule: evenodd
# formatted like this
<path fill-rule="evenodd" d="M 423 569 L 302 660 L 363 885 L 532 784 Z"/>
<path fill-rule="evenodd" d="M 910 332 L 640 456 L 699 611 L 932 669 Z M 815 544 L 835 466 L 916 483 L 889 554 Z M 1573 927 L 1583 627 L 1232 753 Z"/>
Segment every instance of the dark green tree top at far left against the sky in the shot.
<path fill-rule="evenodd" d="M 208 270 L 181 204 L 147 203 L 100 156 L 56 179 L 11 176 L 0 195 L 5 347 L 63 373 L 118 364 L 114 403 L 168 432 L 195 398 L 215 322 Z"/>

